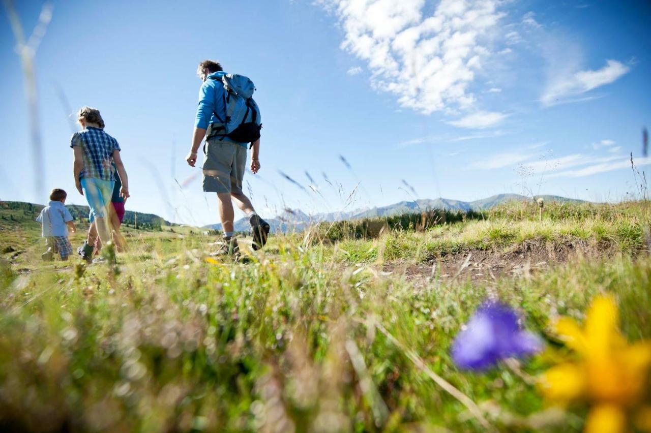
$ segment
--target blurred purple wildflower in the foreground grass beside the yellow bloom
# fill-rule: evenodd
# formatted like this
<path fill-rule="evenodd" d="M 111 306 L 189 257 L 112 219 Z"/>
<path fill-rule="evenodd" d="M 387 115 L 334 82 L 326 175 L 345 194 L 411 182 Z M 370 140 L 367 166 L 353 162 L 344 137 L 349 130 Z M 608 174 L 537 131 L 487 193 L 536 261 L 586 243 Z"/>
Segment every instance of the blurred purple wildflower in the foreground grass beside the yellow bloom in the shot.
<path fill-rule="evenodd" d="M 452 359 L 462 369 L 480 370 L 499 360 L 534 354 L 542 341 L 520 329 L 518 314 L 499 302 L 484 302 L 452 343 Z"/>

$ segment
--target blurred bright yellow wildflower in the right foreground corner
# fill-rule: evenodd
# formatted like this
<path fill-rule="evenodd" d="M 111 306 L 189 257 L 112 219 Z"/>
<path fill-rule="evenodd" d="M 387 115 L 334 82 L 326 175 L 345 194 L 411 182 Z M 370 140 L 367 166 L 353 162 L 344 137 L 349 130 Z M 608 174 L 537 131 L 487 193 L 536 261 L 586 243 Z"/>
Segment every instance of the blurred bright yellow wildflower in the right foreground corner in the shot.
<path fill-rule="evenodd" d="M 625 431 L 626 414 L 635 412 L 643 399 L 651 343 L 629 345 L 617 324 L 615 300 L 602 295 L 592 301 L 583 330 L 568 317 L 554 325 L 579 360 L 547 370 L 540 385 L 550 400 L 587 400 L 594 404 L 586 421 L 587 432 Z"/>

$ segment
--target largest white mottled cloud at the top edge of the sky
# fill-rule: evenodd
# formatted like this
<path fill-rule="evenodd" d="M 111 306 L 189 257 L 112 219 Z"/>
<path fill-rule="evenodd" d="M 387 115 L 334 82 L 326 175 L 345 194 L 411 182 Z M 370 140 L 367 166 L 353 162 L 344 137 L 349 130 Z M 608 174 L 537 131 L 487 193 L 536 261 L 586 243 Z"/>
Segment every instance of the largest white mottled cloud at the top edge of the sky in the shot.
<path fill-rule="evenodd" d="M 342 48 L 367 62 L 372 86 L 400 105 L 424 114 L 474 105 L 470 85 L 492 54 L 484 42 L 503 17 L 499 0 L 441 0 L 431 14 L 425 0 L 317 3 L 339 18 Z"/>

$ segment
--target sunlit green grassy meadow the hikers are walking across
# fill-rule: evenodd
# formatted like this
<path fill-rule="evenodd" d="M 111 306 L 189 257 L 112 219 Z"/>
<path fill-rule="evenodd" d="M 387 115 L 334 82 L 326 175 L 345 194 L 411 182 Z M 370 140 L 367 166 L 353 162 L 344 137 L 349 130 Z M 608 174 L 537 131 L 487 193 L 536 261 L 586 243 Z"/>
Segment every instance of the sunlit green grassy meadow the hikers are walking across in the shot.
<path fill-rule="evenodd" d="M 0 428 L 581 431 L 590 402 L 536 385 L 573 356 L 550 322 L 609 293 L 626 339 L 651 339 L 649 221 L 644 202 L 510 203 L 243 239 L 240 263 L 212 259 L 201 229 L 127 228 L 112 267 L 43 263 L 38 228 L 2 220 Z M 456 367 L 486 299 L 544 351 Z"/>

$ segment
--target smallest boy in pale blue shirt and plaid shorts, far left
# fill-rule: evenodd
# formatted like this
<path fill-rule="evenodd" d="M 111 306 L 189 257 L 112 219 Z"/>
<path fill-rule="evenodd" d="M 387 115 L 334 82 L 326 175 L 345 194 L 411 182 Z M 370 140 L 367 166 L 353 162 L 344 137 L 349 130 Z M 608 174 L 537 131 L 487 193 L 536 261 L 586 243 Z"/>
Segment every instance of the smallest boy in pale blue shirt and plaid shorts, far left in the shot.
<path fill-rule="evenodd" d="M 61 260 L 68 260 L 72 254 L 72 245 L 68 241 L 68 227 L 74 233 L 75 224 L 72 222 L 72 215 L 66 209 L 64 203 L 68 194 L 62 189 L 55 188 L 49 193 L 49 203 L 43 208 L 36 218 L 40 222 L 43 231 L 42 235 L 46 239 L 48 251 L 42 254 L 44 260 L 51 260 L 53 254 L 59 251 Z"/>

